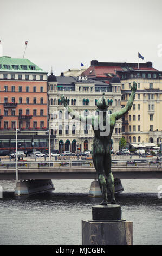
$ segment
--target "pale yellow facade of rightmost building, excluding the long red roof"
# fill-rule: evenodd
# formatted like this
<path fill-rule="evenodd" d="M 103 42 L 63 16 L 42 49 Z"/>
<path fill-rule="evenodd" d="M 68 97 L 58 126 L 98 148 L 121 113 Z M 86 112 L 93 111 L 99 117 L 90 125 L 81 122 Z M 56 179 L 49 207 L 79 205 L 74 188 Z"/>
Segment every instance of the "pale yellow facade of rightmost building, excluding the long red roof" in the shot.
<path fill-rule="evenodd" d="M 162 137 L 162 72 L 148 62 L 144 69 L 126 69 L 118 74 L 122 83 L 121 105 L 131 95 L 133 81 L 137 93 L 131 110 L 122 118 L 122 137 L 129 143 L 160 144 Z"/>

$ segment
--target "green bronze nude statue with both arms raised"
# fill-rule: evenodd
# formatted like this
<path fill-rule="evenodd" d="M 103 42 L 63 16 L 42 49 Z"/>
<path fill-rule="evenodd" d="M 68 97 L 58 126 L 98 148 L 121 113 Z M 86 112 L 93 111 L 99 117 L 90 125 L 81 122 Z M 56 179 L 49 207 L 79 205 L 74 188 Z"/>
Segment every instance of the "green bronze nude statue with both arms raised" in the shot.
<path fill-rule="evenodd" d="M 127 113 L 129 109 L 131 109 L 134 101 L 135 92 L 137 90 L 137 83 L 133 82 L 133 87 L 131 87 L 131 96 L 127 102 L 127 105 L 122 108 L 118 112 L 114 112 L 108 115 L 108 104 L 103 96 L 98 100 L 96 110 L 97 115 L 93 116 L 82 116 L 79 115 L 77 112 L 73 111 L 72 108 L 68 106 L 67 99 L 65 99 L 64 95 L 61 95 L 61 101 L 64 107 L 67 108 L 68 113 L 75 118 L 76 120 L 83 121 L 84 123 L 91 123 L 92 128 L 94 130 L 94 140 L 93 140 L 93 147 L 92 147 L 92 158 L 94 167 L 96 172 L 98 173 L 98 180 L 103 196 L 103 201 L 100 204 L 107 205 L 108 198 L 107 198 L 107 186 L 109 187 L 111 193 L 111 204 L 116 204 L 115 201 L 115 189 L 114 189 L 114 177 L 111 172 L 111 136 L 113 133 L 113 129 L 115 127 L 116 120 L 120 119 L 122 115 Z M 108 135 L 104 135 L 103 128 L 101 129 L 99 116 L 103 117 L 103 126 L 107 127 L 109 125 L 109 132 Z M 108 120 L 108 121 L 107 121 Z M 104 125 L 105 124 L 105 125 Z M 105 128 L 106 129 L 106 128 Z M 103 135 L 101 135 L 103 133 Z M 105 179 L 106 177 L 106 179 Z M 106 183 L 107 182 L 107 183 Z"/>

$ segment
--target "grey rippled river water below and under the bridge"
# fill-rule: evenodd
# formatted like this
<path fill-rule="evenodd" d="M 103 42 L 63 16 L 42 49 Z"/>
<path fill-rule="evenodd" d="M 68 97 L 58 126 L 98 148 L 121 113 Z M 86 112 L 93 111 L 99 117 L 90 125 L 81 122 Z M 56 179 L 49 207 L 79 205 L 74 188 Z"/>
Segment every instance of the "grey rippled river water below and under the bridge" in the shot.
<path fill-rule="evenodd" d="M 87 196 L 93 180 L 53 180 L 55 191 L 16 199 L 15 181 L 0 181 L 1 245 L 81 245 L 81 220 L 92 219 L 92 205 L 101 198 Z M 133 221 L 134 245 L 162 245 L 160 179 L 122 180 L 116 195 L 122 218 Z"/>

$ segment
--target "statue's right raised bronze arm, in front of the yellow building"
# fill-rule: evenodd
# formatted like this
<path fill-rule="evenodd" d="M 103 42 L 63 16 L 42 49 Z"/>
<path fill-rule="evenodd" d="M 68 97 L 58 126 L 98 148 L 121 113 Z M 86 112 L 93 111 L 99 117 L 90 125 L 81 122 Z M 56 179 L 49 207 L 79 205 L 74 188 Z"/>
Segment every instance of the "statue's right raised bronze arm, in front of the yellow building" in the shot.
<path fill-rule="evenodd" d="M 114 112 L 112 114 L 113 117 L 115 117 L 116 120 L 118 120 L 119 118 L 122 117 L 122 115 L 124 115 L 125 113 L 127 113 L 132 105 L 133 105 L 133 101 L 134 101 L 134 97 L 135 97 L 135 92 L 137 90 L 137 83 L 133 82 L 133 87 L 131 86 L 131 96 L 129 97 L 129 100 L 127 102 L 127 105 L 124 108 L 121 108 L 120 111 L 118 112 Z"/>

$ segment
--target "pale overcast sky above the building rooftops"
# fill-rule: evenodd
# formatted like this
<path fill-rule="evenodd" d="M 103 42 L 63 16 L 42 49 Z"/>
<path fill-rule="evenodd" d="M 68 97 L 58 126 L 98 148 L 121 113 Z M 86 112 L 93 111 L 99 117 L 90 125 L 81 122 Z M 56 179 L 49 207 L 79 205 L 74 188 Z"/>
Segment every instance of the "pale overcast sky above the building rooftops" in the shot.
<path fill-rule="evenodd" d="M 161 0 L 0 0 L 3 55 L 60 75 L 90 61 L 144 61 L 162 70 Z M 162 52 L 162 51 L 161 51 Z M 162 55 L 162 54 L 161 54 Z M 140 60 L 142 62 L 142 60 Z"/>

